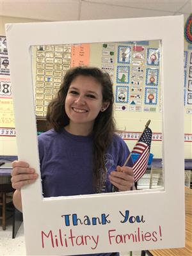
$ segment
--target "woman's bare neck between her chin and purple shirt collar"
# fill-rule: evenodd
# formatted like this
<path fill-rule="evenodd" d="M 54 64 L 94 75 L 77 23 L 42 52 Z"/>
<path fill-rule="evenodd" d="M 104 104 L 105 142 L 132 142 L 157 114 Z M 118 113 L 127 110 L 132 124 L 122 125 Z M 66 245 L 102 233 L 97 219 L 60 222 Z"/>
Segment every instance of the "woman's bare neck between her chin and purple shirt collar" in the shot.
<path fill-rule="evenodd" d="M 70 134 L 88 136 L 92 134 L 93 125 L 89 126 L 87 124 L 68 124 L 65 126 L 65 130 Z"/>

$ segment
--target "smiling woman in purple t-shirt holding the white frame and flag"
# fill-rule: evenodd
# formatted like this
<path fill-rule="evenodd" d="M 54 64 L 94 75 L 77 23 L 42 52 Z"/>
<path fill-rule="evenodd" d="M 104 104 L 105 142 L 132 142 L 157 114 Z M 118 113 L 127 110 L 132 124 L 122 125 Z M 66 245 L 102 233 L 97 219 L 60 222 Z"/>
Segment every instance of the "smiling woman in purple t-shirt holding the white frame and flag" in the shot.
<path fill-rule="evenodd" d="M 96 67 L 68 70 L 47 110 L 52 129 L 38 136 L 44 197 L 127 191 L 134 184 L 125 142 L 115 134 L 113 84 Z M 38 175 L 27 163 L 13 162 L 15 207 L 20 188 Z"/>

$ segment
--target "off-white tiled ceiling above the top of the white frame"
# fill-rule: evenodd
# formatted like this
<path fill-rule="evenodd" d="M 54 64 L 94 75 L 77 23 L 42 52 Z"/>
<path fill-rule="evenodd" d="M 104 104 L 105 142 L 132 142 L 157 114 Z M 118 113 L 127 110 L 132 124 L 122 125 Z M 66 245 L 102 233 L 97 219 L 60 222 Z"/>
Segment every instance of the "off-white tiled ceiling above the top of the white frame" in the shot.
<path fill-rule="evenodd" d="M 1 15 L 51 21 L 153 17 L 190 12 L 191 0 L 1 0 Z"/>

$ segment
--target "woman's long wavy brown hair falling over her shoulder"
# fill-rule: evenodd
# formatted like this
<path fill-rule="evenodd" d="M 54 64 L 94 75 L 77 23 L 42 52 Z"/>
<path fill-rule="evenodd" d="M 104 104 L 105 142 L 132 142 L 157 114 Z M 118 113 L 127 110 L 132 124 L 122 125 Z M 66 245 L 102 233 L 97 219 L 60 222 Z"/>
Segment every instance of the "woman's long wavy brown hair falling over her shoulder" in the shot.
<path fill-rule="evenodd" d="M 69 124 L 70 120 L 65 112 L 65 99 L 68 88 L 77 76 L 92 76 L 102 86 L 102 101 L 109 102 L 105 111 L 100 111 L 93 125 L 93 175 L 96 180 L 100 177 L 101 170 L 104 170 L 104 154 L 108 149 L 115 132 L 113 118 L 113 83 L 109 74 L 97 67 L 75 67 L 70 68 L 61 84 L 60 90 L 47 109 L 47 121 L 56 132 L 61 132 L 63 127 Z M 97 182 L 97 181 L 96 181 Z"/>

